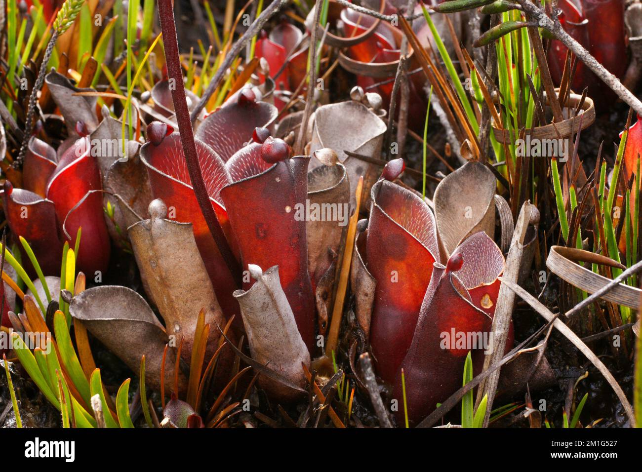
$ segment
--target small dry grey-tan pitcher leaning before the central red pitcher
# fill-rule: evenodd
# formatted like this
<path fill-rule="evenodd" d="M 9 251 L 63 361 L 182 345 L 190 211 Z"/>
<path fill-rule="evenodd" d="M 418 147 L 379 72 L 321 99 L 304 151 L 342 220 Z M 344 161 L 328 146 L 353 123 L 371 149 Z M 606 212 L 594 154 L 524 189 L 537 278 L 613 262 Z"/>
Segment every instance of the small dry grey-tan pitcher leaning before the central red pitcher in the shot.
<path fill-rule="evenodd" d="M 257 265 L 248 266 L 256 283 L 249 290 L 236 290 L 241 306 L 252 358 L 303 387 L 306 377 L 302 364 L 310 367 L 308 347 L 302 339 L 294 313 L 279 281 L 279 268 L 263 272 Z M 289 401 L 300 392 L 261 374 L 259 385 L 276 399 Z"/>

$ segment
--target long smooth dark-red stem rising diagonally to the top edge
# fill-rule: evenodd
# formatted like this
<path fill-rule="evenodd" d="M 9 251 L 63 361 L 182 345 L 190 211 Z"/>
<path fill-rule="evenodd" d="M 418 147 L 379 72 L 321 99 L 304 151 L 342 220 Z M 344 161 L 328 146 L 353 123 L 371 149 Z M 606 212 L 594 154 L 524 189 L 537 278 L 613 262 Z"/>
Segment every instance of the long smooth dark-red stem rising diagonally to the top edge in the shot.
<path fill-rule="evenodd" d="M 187 100 L 185 96 L 185 85 L 183 83 L 183 74 L 180 67 L 180 57 L 178 55 L 178 37 L 176 35 L 176 24 L 174 22 L 174 9 L 171 0 L 159 0 L 159 18 L 160 29 L 165 47 L 165 62 L 170 79 L 175 82 L 175 88 L 171 91 L 171 100 L 174 103 L 176 112 L 176 121 L 178 123 L 178 133 L 180 134 L 180 143 L 183 147 L 185 161 L 189 179 L 192 182 L 198 206 L 200 206 L 203 218 L 211 232 L 218 250 L 223 256 L 223 260 L 229 268 L 234 280 L 240 286 L 241 267 L 230 249 L 225 234 L 218 222 L 214 208 L 207 194 L 203 174 L 198 155 L 196 154 L 196 143 L 194 142 L 194 130 L 192 122 L 189 119 L 189 110 L 187 109 Z"/>

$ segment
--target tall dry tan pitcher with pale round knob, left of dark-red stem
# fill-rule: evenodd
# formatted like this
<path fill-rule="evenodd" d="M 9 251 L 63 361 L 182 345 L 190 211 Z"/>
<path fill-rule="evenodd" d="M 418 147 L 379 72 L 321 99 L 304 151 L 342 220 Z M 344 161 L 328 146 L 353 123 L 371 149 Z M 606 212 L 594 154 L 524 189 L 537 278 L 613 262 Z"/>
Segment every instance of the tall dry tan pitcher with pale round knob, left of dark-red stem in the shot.
<path fill-rule="evenodd" d="M 225 326 L 212 282 L 200 257 L 191 223 L 166 219 L 167 206 L 160 199 L 149 205 L 149 220 L 128 228 L 134 256 L 145 292 L 165 321 L 175 344 L 184 343 L 182 356 L 189 363 L 198 313 L 205 310 L 205 323 Z M 220 333 L 211 329 L 205 362 L 213 356 Z M 227 352 L 227 351 L 226 351 Z"/>

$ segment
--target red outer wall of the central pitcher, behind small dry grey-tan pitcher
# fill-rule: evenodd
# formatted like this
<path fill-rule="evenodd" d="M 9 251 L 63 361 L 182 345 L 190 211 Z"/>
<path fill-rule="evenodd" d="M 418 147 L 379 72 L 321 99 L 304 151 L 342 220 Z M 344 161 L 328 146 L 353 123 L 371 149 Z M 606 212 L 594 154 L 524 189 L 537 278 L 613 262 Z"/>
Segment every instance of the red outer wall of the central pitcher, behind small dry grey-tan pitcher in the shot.
<path fill-rule="evenodd" d="M 281 286 L 294 313 L 299 333 L 311 349 L 315 334 L 315 301 L 308 274 L 305 218 L 297 206 L 307 197 L 309 157 L 297 156 L 268 170 L 238 180 L 221 190 L 241 262 L 279 266 Z M 248 290 L 254 281 L 244 279 Z"/>

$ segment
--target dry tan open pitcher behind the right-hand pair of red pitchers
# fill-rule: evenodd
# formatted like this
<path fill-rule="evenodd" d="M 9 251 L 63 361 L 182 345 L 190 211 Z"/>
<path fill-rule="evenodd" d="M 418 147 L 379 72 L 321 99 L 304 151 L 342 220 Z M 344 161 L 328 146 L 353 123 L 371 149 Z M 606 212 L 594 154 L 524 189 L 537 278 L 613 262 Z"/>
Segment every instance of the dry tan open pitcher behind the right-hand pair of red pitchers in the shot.
<path fill-rule="evenodd" d="M 495 176 L 481 162 L 467 162 L 435 189 L 435 218 L 441 259 L 478 231 L 495 233 Z"/>

